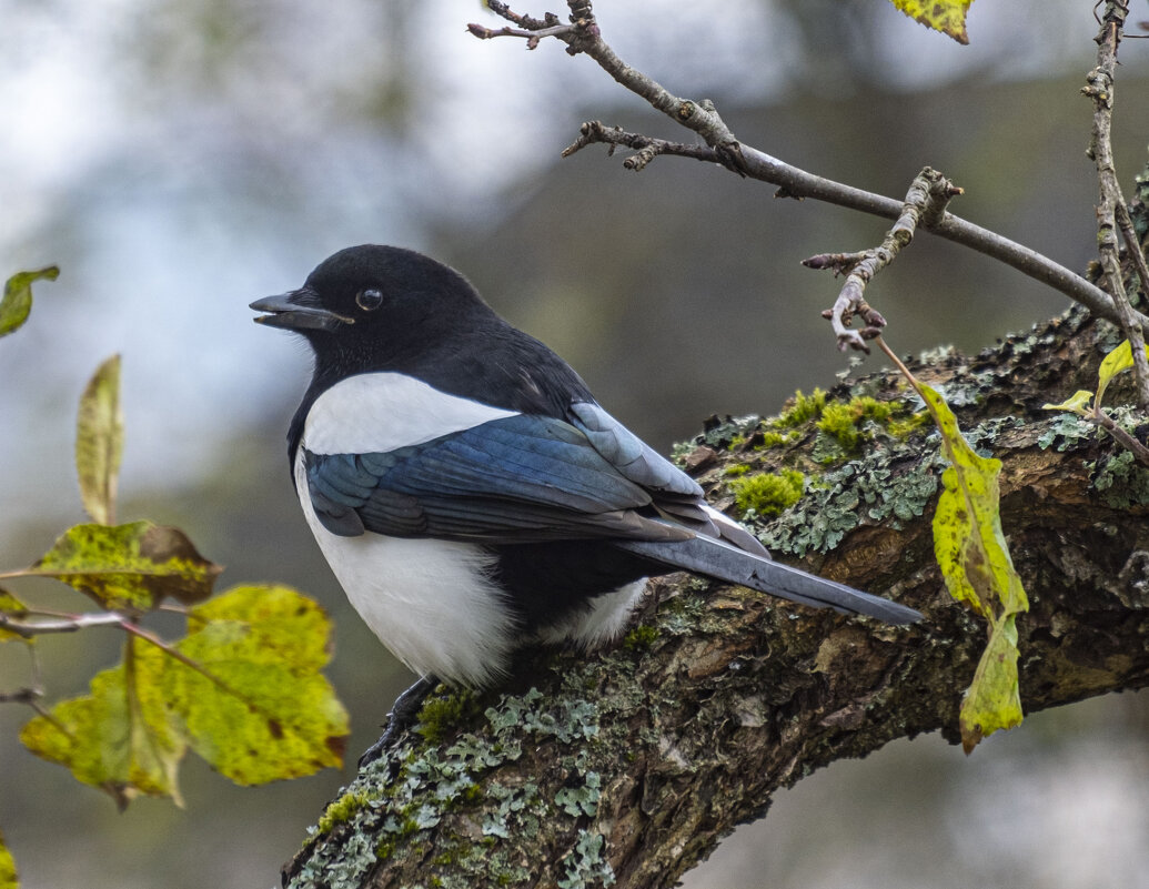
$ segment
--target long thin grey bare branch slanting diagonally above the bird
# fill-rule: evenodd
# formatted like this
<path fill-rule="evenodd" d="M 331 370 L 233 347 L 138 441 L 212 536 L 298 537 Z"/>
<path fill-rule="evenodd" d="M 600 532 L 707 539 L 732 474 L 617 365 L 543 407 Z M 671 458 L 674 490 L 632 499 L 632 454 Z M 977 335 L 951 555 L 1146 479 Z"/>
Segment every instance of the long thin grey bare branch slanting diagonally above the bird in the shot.
<path fill-rule="evenodd" d="M 703 150 L 701 147 L 692 146 L 691 152 L 686 153 L 676 150 L 671 147 L 673 144 L 668 144 L 660 150 L 661 154 L 688 156 L 699 161 L 719 163 L 740 176 L 777 185 L 780 190 L 779 194 L 786 196 L 812 198 L 887 219 L 896 219 L 901 215 L 901 201 L 815 176 L 740 142 L 710 102 L 679 99 L 641 71 L 623 62 L 602 39 L 586 0 L 569 0 L 568 5 L 572 9 L 572 17 L 574 17 L 573 10 L 577 10 L 578 21 L 583 24 L 577 26 L 573 32 L 555 34 L 557 39 L 566 44 L 566 52 L 572 55 L 585 53 L 594 59 L 615 80 L 645 99 L 651 107 L 676 123 L 699 133 L 709 147 L 709 150 Z M 499 6 L 503 5 L 499 3 Z M 492 2 L 491 7 L 495 9 L 495 3 Z M 516 16 L 514 13 L 510 13 L 509 16 L 503 15 L 503 17 L 519 23 L 539 21 L 529 20 L 526 16 Z M 550 18 L 552 22 L 557 22 L 557 16 Z M 607 131 L 609 132 L 609 130 Z M 634 134 L 627 136 L 633 137 Z M 608 140 L 603 139 L 602 141 Z M 1081 303 L 1094 315 L 1119 323 L 1117 308 L 1108 293 L 1028 247 L 949 212 L 938 221 L 924 222 L 923 227 L 933 234 L 1011 265 L 1023 275 Z M 1135 320 L 1143 330 L 1149 330 L 1149 317 L 1138 312 Z"/>

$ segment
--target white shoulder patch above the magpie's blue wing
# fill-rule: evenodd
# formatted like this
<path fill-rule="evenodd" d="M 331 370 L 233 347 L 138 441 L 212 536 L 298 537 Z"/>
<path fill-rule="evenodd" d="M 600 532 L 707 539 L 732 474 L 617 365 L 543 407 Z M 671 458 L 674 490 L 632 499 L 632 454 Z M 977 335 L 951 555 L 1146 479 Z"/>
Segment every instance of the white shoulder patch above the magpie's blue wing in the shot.
<path fill-rule="evenodd" d="M 515 415 L 406 373 L 361 373 L 315 400 L 301 443 L 313 454 L 381 454 Z"/>

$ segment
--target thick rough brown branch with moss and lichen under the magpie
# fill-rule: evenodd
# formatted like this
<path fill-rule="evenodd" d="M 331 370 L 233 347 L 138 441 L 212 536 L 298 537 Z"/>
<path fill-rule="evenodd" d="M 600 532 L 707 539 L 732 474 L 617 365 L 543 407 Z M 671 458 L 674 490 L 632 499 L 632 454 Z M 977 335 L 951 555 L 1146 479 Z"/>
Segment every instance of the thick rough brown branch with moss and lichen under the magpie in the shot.
<path fill-rule="evenodd" d="M 1094 388 L 1119 341 L 1071 310 L 974 358 L 913 364 L 1004 463 L 1002 525 L 1031 600 L 1018 620 L 1026 711 L 1149 682 L 1149 471 L 1041 410 Z M 831 393 L 859 394 L 910 397 L 887 373 Z M 432 697 L 422 734 L 345 788 L 285 884 L 670 887 L 778 788 L 897 737 L 956 741 L 987 635 L 933 558 L 938 435 L 863 426 L 846 459 L 825 457 L 813 423 L 779 447 L 757 430 L 716 425 L 691 456 L 711 498 L 730 505 L 732 464 L 800 467 L 805 495 L 757 527 L 768 546 L 925 620 L 889 627 L 688 575 L 654 581 L 660 604 L 614 650 L 538 654 L 512 687 Z"/>

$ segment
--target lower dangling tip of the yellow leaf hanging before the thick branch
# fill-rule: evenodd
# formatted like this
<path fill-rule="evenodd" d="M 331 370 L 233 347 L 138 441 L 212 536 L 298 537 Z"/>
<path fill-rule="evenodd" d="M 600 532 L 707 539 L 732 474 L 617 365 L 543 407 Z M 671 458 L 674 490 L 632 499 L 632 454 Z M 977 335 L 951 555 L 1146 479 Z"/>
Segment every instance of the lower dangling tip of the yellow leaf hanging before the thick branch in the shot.
<path fill-rule="evenodd" d="M 981 655 L 973 683 L 962 701 L 958 722 L 962 749 L 973 751 L 978 742 L 998 728 L 1021 725 L 1021 694 L 1017 680 L 1016 614 L 994 621 L 989 644 Z"/>

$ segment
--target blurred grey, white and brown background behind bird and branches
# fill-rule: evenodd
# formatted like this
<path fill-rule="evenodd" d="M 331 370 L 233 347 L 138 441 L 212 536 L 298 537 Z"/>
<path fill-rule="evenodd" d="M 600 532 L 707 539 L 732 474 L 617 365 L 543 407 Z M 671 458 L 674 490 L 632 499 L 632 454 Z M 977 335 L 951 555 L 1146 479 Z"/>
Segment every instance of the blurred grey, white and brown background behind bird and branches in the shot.
<path fill-rule="evenodd" d="M 965 187 L 955 212 L 1081 269 L 1095 241 L 1078 94 L 1090 7 L 984 0 L 969 47 L 885 0 L 600 0 L 596 13 L 626 61 L 714 99 L 745 141 L 894 196 L 928 163 Z M 0 275 L 62 269 L 0 342 L 0 565 L 34 561 L 83 520 L 75 405 L 122 353 L 121 520 L 182 526 L 228 565 L 221 588 L 284 581 L 324 604 L 352 763 L 410 677 L 303 525 L 284 434 L 308 358 L 253 325 L 248 302 L 352 243 L 424 250 L 663 450 L 709 413 L 777 412 L 847 368 L 818 315 L 836 285 L 799 262 L 876 243 L 885 223 L 689 161 L 639 175 L 602 148 L 560 161 L 588 118 L 686 137 L 558 44 L 471 38 L 468 22 L 499 24 L 478 2 L 0 0 Z M 1146 162 L 1147 54 L 1123 46 L 1126 184 Z M 927 237 L 869 295 L 905 353 L 976 351 L 1064 308 Z M 18 589 L 84 608 L 47 582 Z M 51 698 L 82 693 L 118 641 L 44 639 Z M 0 689 L 26 681 L 14 648 L 0 650 Z M 0 708 L 0 829 L 28 889 L 278 886 L 352 774 L 240 789 L 190 758 L 186 809 L 141 799 L 117 814 L 18 745 L 26 718 Z M 1149 886 L 1147 729 L 1146 696 L 1123 695 L 1033 716 L 969 759 L 936 736 L 892 744 L 779 795 L 687 886 Z"/>

